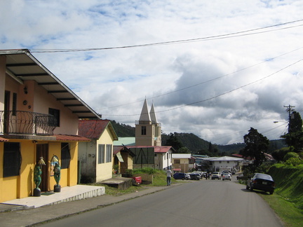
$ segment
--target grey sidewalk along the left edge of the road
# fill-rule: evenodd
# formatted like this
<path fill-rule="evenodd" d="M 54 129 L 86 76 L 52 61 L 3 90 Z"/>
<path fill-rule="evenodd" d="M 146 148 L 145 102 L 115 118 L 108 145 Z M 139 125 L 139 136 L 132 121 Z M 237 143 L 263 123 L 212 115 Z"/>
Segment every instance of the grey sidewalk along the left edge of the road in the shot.
<path fill-rule="evenodd" d="M 172 186 L 177 186 L 177 185 L 180 184 L 173 184 Z M 142 191 L 137 191 L 135 193 L 128 193 L 120 196 L 100 195 L 97 197 L 87 198 L 83 200 L 60 202 L 58 204 L 51 203 L 53 205 L 46 204 L 41 206 L 36 206 L 36 205 L 31 206 L 29 205 L 29 203 L 27 203 L 25 207 L 23 205 L 7 205 L 2 203 L 0 204 L 0 226 L 6 226 L 6 227 L 32 226 L 35 223 L 41 223 L 43 221 L 49 221 L 52 219 L 59 219 L 65 216 L 79 214 L 81 212 L 86 212 L 92 209 L 105 207 L 108 205 L 115 204 L 117 202 L 123 202 L 125 200 L 137 198 L 142 195 L 148 195 L 168 188 L 171 188 L 171 186 L 169 187 L 147 186 L 146 189 Z M 56 195 L 60 196 L 59 194 L 60 193 L 56 193 L 55 196 Z M 41 195 L 41 196 L 47 197 L 48 195 Z M 53 195 L 49 195 L 49 196 L 53 196 Z M 2 211 L 6 210 L 8 212 L 1 212 L 1 209 Z"/>

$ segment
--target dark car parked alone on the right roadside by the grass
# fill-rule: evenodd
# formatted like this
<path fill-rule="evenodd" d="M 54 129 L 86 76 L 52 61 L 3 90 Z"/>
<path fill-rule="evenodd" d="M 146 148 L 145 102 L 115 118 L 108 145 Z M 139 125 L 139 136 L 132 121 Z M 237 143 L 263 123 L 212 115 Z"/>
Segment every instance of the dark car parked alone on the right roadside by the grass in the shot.
<path fill-rule="evenodd" d="M 272 195 L 275 189 L 274 179 L 269 174 L 255 173 L 253 177 L 248 177 L 246 189 L 268 191 Z"/>

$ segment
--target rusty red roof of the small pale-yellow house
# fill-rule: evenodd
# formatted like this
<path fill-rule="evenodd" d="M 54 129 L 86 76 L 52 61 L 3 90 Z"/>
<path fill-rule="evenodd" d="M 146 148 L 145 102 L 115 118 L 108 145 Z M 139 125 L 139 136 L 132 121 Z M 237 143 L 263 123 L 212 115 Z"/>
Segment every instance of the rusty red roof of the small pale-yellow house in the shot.
<path fill-rule="evenodd" d="M 99 139 L 107 127 L 112 132 L 114 140 L 118 140 L 112 123 L 109 120 L 79 120 L 78 134 L 90 139 Z"/>

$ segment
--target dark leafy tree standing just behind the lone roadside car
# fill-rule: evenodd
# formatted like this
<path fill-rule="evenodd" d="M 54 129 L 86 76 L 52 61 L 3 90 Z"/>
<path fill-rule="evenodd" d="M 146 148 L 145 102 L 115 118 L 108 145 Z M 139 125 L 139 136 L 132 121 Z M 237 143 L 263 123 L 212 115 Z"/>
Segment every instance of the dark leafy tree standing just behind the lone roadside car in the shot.
<path fill-rule="evenodd" d="M 245 148 L 241 151 L 241 154 L 245 157 L 253 158 L 255 167 L 262 164 L 266 157 L 264 153 L 267 152 L 269 147 L 269 139 L 264 137 L 254 128 L 248 130 L 248 134 L 244 137 Z"/>

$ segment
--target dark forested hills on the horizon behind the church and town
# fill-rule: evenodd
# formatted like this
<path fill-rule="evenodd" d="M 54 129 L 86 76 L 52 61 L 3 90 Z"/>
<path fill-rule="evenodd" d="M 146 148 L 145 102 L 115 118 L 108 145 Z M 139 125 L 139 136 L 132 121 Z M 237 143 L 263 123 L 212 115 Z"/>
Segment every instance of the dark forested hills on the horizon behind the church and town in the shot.
<path fill-rule="evenodd" d="M 130 125 L 124 125 L 120 123 L 116 123 L 116 121 L 111 121 L 116 131 L 118 137 L 135 137 L 135 128 L 131 127 Z M 210 144 L 210 142 L 201 139 L 200 137 L 194 135 L 193 133 L 170 133 L 170 135 L 163 134 L 162 138 L 162 146 L 166 145 L 170 136 L 175 137 L 182 146 L 186 146 L 191 153 L 194 154 L 207 154 L 211 156 L 211 153 L 215 154 L 216 156 L 226 156 L 232 153 L 239 153 L 241 149 L 245 147 L 244 143 L 241 144 L 229 144 L 229 145 L 216 145 Z M 271 140 L 269 142 L 269 151 L 275 151 L 277 149 L 281 149 L 285 146 L 283 139 L 276 139 Z"/>

